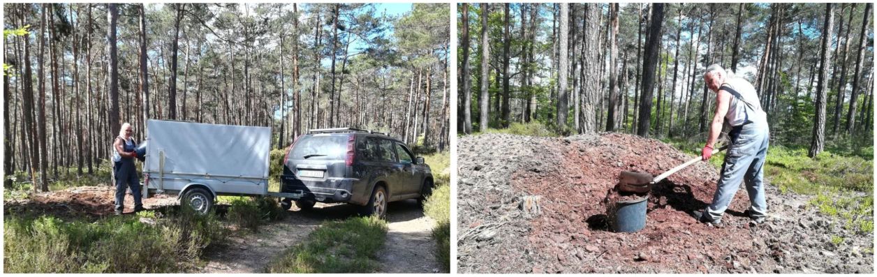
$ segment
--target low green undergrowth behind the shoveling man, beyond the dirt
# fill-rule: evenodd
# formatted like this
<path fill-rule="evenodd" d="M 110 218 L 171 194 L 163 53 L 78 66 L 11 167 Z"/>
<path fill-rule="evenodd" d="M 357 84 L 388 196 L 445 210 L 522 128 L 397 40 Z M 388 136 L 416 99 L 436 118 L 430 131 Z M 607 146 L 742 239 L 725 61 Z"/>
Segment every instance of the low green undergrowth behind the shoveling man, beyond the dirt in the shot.
<path fill-rule="evenodd" d="M 702 147 L 702 142 L 666 142 L 693 155 Z M 766 181 L 781 194 L 815 195 L 809 206 L 838 218 L 847 230 L 873 233 L 873 156 L 840 143 L 826 149 L 811 159 L 807 146 L 770 146 L 763 169 Z M 724 155 L 717 155 L 709 162 L 721 168 L 723 160 Z"/>

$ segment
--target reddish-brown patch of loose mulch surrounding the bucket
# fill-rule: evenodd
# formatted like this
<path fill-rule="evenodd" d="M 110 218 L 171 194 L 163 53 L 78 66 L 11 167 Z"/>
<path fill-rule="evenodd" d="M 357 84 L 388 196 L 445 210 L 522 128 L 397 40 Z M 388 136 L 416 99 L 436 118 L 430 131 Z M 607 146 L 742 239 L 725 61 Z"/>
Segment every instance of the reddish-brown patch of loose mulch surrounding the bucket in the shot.
<path fill-rule="evenodd" d="M 543 215 L 532 221 L 530 243 L 541 252 L 558 256 L 555 266 L 567 266 L 564 261 L 570 259 L 564 256 L 569 246 L 601 253 L 602 259 L 588 265 L 594 268 L 602 266 L 602 260 L 611 259 L 609 264 L 614 266 L 642 268 L 673 263 L 679 272 L 705 272 L 705 267 L 698 268 L 698 260 L 706 256 L 736 253 L 739 259 L 747 259 L 745 250 L 751 248 L 752 238 L 748 231 L 715 229 L 696 224 L 690 216 L 693 210 L 702 210 L 711 202 L 718 172 L 709 164 L 696 164 L 661 181 L 649 194 L 645 228 L 636 233 L 617 233 L 607 230 L 608 205 L 641 197 L 613 192 L 618 174 L 635 171 L 658 175 L 692 157 L 653 139 L 614 133 L 597 141 L 558 140 L 547 147 L 563 154 L 560 164 L 540 172 L 518 170 L 512 175 L 511 186 L 529 195 L 543 195 Z M 748 205 L 745 192 L 738 193 L 731 214 L 746 210 Z M 732 215 L 725 221 L 745 224 L 745 218 Z M 587 266 L 584 269 L 588 271 Z"/>

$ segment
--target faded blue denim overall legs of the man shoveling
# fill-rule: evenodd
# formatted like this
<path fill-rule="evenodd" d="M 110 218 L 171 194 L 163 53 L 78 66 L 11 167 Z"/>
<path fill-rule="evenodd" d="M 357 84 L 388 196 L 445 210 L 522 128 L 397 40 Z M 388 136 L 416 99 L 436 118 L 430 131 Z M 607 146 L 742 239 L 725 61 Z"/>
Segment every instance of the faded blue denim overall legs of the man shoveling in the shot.
<path fill-rule="evenodd" d="M 707 207 L 704 216 L 713 223 L 722 221 L 724 210 L 728 209 L 740 183 L 746 185 L 749 193 L 749 217 L 759 219 L 765 217 L 767 202 L 765 201 L 764 171 L 767 146 L 770 140 L 766 123 L 745 124 L 732 130 L 731 147 L 724 157 L 722 176 L 718 179 L 716 194 Z"/>

